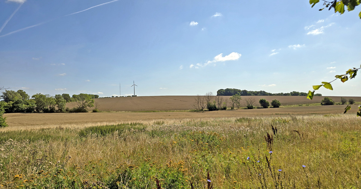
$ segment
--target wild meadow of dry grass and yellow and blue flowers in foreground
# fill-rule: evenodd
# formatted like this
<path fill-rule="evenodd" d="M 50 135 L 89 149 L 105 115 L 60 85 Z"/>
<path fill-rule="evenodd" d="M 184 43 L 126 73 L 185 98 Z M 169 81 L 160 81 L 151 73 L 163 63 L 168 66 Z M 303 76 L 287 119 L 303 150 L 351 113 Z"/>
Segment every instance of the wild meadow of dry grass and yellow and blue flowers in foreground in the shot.
<path fill-rule="evenodd" d="M 3 131 L 0 188 L 359 188 L 360 129 L 326 114 Z"/>

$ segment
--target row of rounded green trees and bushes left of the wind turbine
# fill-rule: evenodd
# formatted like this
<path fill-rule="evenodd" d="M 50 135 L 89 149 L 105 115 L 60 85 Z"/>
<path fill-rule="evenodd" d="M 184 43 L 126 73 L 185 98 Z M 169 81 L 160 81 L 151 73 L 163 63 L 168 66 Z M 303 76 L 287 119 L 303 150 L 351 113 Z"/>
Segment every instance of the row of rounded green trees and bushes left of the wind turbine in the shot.
<path fill-rule="evenodd" d="M 55 112 L 87 112 L 88 107 L 94 106 L 93 98 L 99 98 L 99 95 L 93 94 L 35 94 L 28 95 L 23 90 L 5 90 L 0 96 L 0 109 L 4 113 L 55 113 Z M 76 102 L 74 108 L 66 108 L 67 102 Z"/>

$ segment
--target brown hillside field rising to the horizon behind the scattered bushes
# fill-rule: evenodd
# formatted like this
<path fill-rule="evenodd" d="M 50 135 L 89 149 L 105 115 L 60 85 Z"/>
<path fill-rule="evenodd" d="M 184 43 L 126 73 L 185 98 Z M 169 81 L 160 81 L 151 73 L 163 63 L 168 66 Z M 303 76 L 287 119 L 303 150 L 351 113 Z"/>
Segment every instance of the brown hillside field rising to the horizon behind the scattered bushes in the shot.
<path fill-rule="evenodd" d="M 223 96 L 224 99 L 229 99 L 231 96 Z M 313 100 L 306 99 L 306 96 L 242 96 L 241 107 L 245 107 L 246 98 L 256 99 L 256 106 L 259 106 L 258 100 L 261 98 L 271 102 L 273 99 L 277 99 L 281 102 L 281 105 L 294 105 L 294 104 L 311 104 L 321 103 L 321 100 L 325 96 L 314 96 Z M 334 102 L 340 102 L 341 96 L 328 96 L 334 100 Z M 195 96 L 134 96 L 134 97 L 118 97 L 118 98 L 99 98 L 94 99 L 100 104 L 100 111 L 173 111 L 173 110 L 189 110 L 194 109 L 192 104 L 194 103 Z M 349 97 L 353 98 L 356 102 L 361 101 L 361 97 Z M 66 103 L 66 107 L 73 108 L 74 102 Z M 227 104 L 229 107 L 230 105 Z M 89 110 L 91 110 L 90 108 Z"/>

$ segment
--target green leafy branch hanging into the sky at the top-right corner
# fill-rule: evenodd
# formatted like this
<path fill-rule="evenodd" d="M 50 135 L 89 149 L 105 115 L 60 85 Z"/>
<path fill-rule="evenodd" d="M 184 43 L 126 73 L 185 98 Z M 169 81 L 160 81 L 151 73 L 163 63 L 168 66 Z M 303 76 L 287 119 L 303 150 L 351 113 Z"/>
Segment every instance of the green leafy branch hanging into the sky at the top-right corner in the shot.
<path fill-rule="evenodd" d="M 334 0 L 334 1 L 323 1 L 323 6 L 325 6 L 322 9 L 319 9 L 319 11 L 329 8 L 331 10 L 334 8 L 335 13 L 339 12 L 340 14 L 343 14 L 345 12 L 345 6 L 347 7 L 348 11 L 354 10 L 356 6 L 360 5 L 361 0 Z M 319 3 L 319 0 L 310 0 L 310 4 L 312 4 L 311 7 Z M 361 19 L 361 12 L 358 14 L 358 16 Z"/>

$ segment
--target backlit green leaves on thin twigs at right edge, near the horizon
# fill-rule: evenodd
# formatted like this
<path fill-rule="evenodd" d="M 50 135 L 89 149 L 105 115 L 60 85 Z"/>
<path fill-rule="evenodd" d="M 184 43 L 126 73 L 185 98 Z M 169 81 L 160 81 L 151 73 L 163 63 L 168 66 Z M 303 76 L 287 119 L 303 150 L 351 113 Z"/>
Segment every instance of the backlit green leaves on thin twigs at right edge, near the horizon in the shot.
<path fill-rule="evenodd" d="M 316 90 L 318 90 L 319 88 L 321 88 L 322 86 L 325 87 L 326 89 L 333 90 L 331 82 L 334 82 L 337 79 L 340 79 L 344 83 L 349 79 L 351 80 L 351 79 L 355 78 L 356 75 L 357 75 L 357 71 L 359 69 L 361 69 L 361 66 L 360 66 L 360 68 L 348 69 L 344 75 L 336 75 L 335 76 L 336 78 L 334 80 L 330 81 L 330 82 L 322 82 L 322 85 L 312 85 L 313 91 L 308 91 L 308 94 L 307 94 L 306 98 L 312 100 L 314 92 Z M 357 104 L 357 105 L 359 105 L 359 104 Z M 346 113 L 350 109 L 351 109 L 351 105 L 347 105 L 347 107 L 345 108 L 344 113 Z M 361 105 L 358 106 L 358 109 L 359 109 L 359 111 L 357 112 L 357 116 L 361 116 Z"/>

